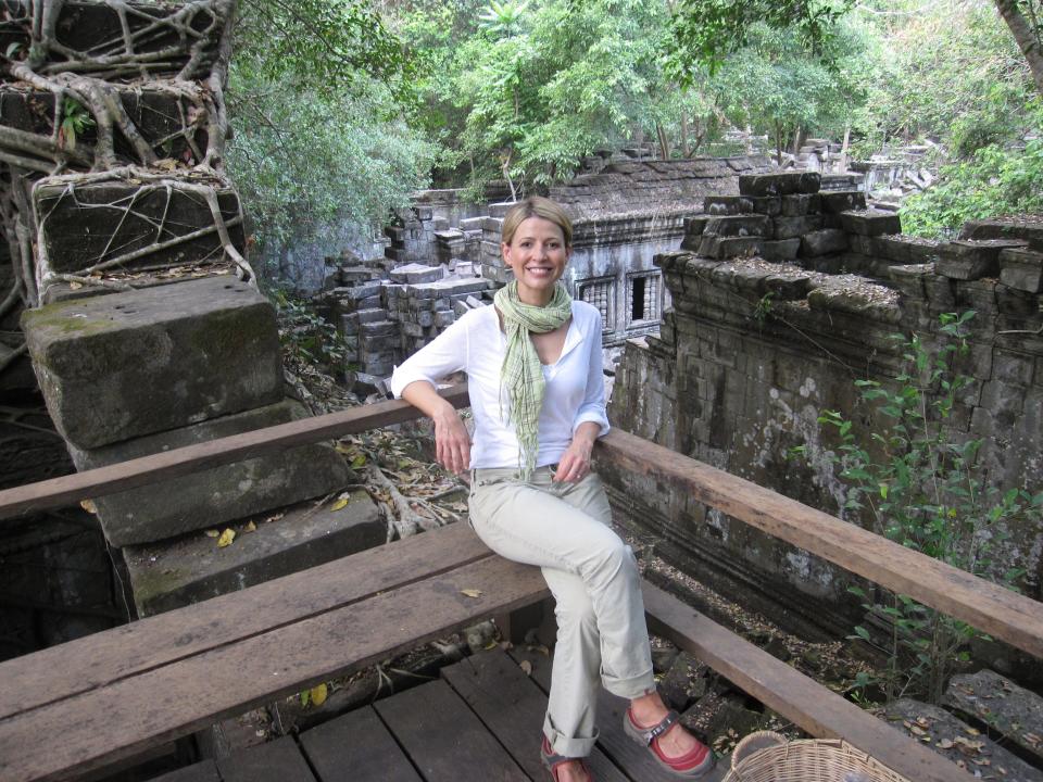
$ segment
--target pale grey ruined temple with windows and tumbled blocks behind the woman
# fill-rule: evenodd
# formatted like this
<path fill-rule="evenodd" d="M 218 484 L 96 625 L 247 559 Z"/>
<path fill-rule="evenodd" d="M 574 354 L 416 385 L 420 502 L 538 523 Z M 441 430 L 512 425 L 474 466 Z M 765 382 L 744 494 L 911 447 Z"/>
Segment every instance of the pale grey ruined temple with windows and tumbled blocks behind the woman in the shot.
<path fill-rule="evenodd" d="M 621 161 L 550 189 L 574 219 L 565 283 L 601 311 L 606 345 L 658 329 L 668 293 L 652 257 L 677 247 L 686 216 L 708 194 L 737 192 L 740 173 L 771 167 L 761 157 Z M 386 391 L 395 364 L 512 279 L 500 253 L 511 203 L 476 206 L 460 192 L 419 193 L 386 228 L 384 258 L 332 261 L 316 302 L 344 337 L 357 390 Z"/>

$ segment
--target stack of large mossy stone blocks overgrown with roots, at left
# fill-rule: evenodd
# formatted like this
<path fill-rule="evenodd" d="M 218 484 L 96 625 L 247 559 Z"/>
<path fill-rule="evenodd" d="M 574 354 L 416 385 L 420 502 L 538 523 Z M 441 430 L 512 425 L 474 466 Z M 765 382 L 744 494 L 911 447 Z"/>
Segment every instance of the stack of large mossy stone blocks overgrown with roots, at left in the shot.
<path fill-rule="evenodd" d="M 224 171 L 233 11 L 231 0 L 3 5 L 4 315 L 25 310 L 22 350 L 77 469 L 310 414 L 287 395 L 275 311 Z M 81 538 L 75 551 L 34 547 L 61 524 L 104 534 L 100 570 L 106 546 L 121 551 L 141 616 L 384 543 L 365 492 L 336 513 L 315 502 L 350 481 L 334 447 L 314 444 L 99 497 L 85 503 L 91 516 L 7 522 L 3 592 L 100 619 L 43 644 L 129 618 L 123 594 L 78 575 Z M 226 527 L 241 533 L 231 550 L 200 531 Z M 38 619 L 12 614 L 10 634 L 32 634 L 20 621 Z"/>

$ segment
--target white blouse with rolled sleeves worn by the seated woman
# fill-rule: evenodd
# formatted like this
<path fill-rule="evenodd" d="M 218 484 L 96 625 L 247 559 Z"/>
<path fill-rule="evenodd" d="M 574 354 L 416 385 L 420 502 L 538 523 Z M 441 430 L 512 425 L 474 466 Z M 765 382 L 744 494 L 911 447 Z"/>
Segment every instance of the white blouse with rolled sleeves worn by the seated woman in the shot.
<path fill-rule="evenodd" d="M 546 390 L 539 421 L 536 465 L 556 464 L 585 421 L 608 431 L 605 383 L 602 377 L 601 313 L 587 302 L 573 302 L 573 319 L 562 355 L 543 365 Z M 391 376 L 395 399 L 416 380 L 437 383 L 455 371 L 467 373 L 470 409 L 475 416 L 470 468 L 517 467 L 522 463 L 518 438 L 506 422 L 508 394 L 500 384 L 500 367 L 507 338 L 492 305 L 472 310 L 410 356 Z M 503 408 L 501 411 L 501 401 Z"/>

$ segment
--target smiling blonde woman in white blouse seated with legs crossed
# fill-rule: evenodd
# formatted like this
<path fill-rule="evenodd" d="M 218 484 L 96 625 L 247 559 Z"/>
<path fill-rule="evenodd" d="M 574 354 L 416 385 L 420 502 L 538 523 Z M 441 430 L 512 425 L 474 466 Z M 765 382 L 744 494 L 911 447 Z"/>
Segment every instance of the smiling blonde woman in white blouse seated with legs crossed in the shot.
<path fill-rule="evenodd" d="M 610 528 L 590 469 L 608 431 L 601 315 L 558 283 L 573 228 L 553 201 L 530 198 L 503 220 L 501 251 L 515 281 L 495 306 L 473 310 L 398 367 L 391 389 L 435 421 L 437 458 L 472 470 L 470 522 L 494 552 L 538 565 L 556 601 L 557 643 L 542 757 L 555 782 L 590 780 L 599 683 L 630 699 L 625 727 L 662 766 L 694 779 L 713 754 L 655 691 L 633 554 Z M 472 442 L 435 381 L 465 370 Z"/>

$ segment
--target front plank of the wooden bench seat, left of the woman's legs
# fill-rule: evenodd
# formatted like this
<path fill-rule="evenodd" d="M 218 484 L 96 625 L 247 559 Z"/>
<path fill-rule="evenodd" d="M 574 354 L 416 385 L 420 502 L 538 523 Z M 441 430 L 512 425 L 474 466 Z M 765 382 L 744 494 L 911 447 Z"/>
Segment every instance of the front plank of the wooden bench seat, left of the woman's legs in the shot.
<path fill-rule="evenodd" d="M 108 765 L 546 595 L 538 568 L 480 559 L 121 679 L 0 720 L 0 779 L 53 780 Z M 25 751 L 56 735 L 47 752 Z"/>

